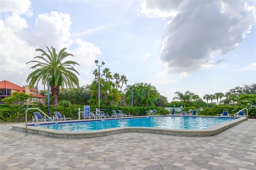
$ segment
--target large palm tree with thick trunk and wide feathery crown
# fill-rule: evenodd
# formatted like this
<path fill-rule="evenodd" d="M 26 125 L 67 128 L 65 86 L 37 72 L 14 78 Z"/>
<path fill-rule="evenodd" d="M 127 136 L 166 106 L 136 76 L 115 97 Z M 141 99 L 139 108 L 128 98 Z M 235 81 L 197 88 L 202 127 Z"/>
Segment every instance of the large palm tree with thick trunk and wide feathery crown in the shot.
<path fill-rule="evenodd" d="M 74 88 L 75 86 L 79 88 L 78 77 L 73 73 L 79 73 L 74 69 L 75 65 L 79 65 L 75 61 L 65 61 L 66 57 L 72 56 L 73 54 L 67 53 L 63 48 L 59 53 L 56 53 L 55 48 L 51 47 L 52 51 L 48 47 L 48 53 L 43 49 L 36 49 L 36 51 L 42 52 L 40 56 L 34 57 L 34 59 L 40 59 L 42 61 L 29 61 L 28 63 L 36 63 L 36 65 L 30 67 L 30 69 L 36 69 L 30 75 L 28 75 L 27 82 L 29 86 L 32 87 L 42 79 L 42 84 L 45 86 L 47 83 L 48 76 L 52 77 L 49 79 L 49 84 L 51 87 L 51 93 L 53 96 L 53 105 L 58 106 L 58 97 L 60 93 L 60 87 L 64 86 L 68 88 Z M 27 63 L 27 64 L 28 64 Z"/>

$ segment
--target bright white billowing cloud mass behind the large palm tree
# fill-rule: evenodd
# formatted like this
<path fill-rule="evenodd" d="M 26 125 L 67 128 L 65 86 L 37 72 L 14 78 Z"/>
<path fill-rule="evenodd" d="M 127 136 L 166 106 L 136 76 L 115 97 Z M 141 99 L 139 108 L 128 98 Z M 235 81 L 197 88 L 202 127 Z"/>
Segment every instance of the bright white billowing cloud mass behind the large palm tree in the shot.
<path fill-rule="evenodd" d="M 46 45 L 49 48 L 51 46 L 56 48 L 57 52 L 67 47 L 68 50 L 66 51 L 71 51 L 70 53 L 74 54 L 72 59 L 67 59 L 80 64 L 80 66 L 75 67 L 80 73 L 80 76 L 78 76 L 80 84 L 85 85 L 90 83 L 92 80 L 89 75 L 90 69 L 95 67 L 94 60 L 96 59 L 96 55 L 101 54 L 101 51 L 92 43 L 83 42 L 80 39 L 75 40 L 78 46 L 77 48 L 69 49 L 70 45 L 74 42 L 70 39 L 70 26 L 72 22 L 69 14 L 59 12 L 38 14 L 34 29 L 25 31 L 28 28 L 28 24 L 26 19 L 21 18 L 20 15 L 24 13 L 31 14 L 28 10 L 29 6 L 27 6 L 27 9 L 22 5 L 18 8 L 19 6 L 15 6 L 17 5 L 15 4 L 16 1 L 11 3 L 14 4 L 4 4 L 5 6 L 3 6 L 1 1 L 1 10 L 4 9 L 4 12 L 10 12 L 9 14 L 5 14 L 4 20 L 0 20 L 1 81 L 8 80 L 18 85 L 28 84 L 26 83 L 26 78 L 34 69 L 29 70 L 33 63 L 26 63 L 32 61 L 35 56 L 40 55 L 40 52 L 35 51 L 36 48 L 46 51 Z M 17 3 L 19 4 L 18 1 Z M 15 8 L 12 9 L 11 7 L 13 6 Z M 87 76 L 81 76 L 81 74 Z M 82 79 L 82 77 L 85 78 Z M 39 88 L 42 88 L 41 82 L 38 85 Z"/>

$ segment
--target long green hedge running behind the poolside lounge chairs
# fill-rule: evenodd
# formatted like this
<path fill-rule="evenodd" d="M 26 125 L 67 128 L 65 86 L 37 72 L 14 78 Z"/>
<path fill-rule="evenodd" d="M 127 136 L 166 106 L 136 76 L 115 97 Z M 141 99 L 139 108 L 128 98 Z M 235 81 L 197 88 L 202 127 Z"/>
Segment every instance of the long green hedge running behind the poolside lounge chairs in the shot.
<path fill-rule="evenodd" d="M 29 108 L 38 108 L 42 110 L 44 113 L 48 113 L 47 105 L 33 105 L 29 106 Z M 96 109 L 97 106 L 90 106 L 90 109 Z M 66 117 L 71 117 L 72 119 L 78 119 L 78 108 L 84 109 L 84 105 L 70 105 L 70 107 L 63 106 L 50 106 L 50 116 L 53 116 L 55 111 L 60 112 L 62 115 Z M 123 113 L 132 114 L 133 116 L 142 116 L 145 115 L 146 111 L 156 109 L 156 115 L 166 115 L 170 112 L 166 110 L 164 107 L 111 107 L 111 106 L 102 106 L 101 109 L 104 113 L 108 113 L 112 115 L 112 110 L 122 110 Z M 187 111 L 190 113 L 192 110 L 196 109 L 196 107 L 185 107 L 182 111 Z M 233 106 L 214 106 L 210 108 L 204 107 L 202 111 L 198 111 L 198 115 L 203 116 L 216 116 L 217 114 L 221 114 L 223 111 L 228 111 L 229 114 L 235 114 L 236 112 L 243 109 L 242 107 L 233 107 Z M 28 121 L 32 121 L 33 112 L 37 110 L 29 110 L 28 111 Z M 24 109 L 20 105 L 0 105 L 0 121 L 9 121 L 9 122 L 22 122 L 25 121 L 25 113 L 26 109 Z M 256 108 L 248 109 L 249 118 L 256 117 Z"/>

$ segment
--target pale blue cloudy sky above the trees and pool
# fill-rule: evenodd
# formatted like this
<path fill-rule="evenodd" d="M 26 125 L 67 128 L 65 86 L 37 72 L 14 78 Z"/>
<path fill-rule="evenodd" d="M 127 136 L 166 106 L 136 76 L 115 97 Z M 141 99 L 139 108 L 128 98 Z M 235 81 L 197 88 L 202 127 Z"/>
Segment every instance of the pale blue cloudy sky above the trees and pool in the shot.
<path fill-rule="evenodd" d="M 0 81 L 28 85 L 37 48 L 66 47 L 79 84 L 100 70 L 176 91 L 226 93 L 256 83 L 256 1 L 1 0 Z M 39 90 L 44 86 L 39 84 Z M 46 87 L 47 88 L 47 87 Z"/>

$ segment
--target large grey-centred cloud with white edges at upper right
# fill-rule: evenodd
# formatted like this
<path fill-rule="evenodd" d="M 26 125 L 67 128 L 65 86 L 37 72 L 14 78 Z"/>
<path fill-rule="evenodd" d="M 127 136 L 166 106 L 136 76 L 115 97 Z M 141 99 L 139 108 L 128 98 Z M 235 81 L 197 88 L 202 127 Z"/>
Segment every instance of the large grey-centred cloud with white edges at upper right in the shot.
<path fill-rule="evenodd" d="M 256 24 L 255 7 L 245 1 L 144 1 L 141 13 L 166 18 L 159 59 L 180 78 L 221 63 L 214 54 L 235 49 Z"/>

